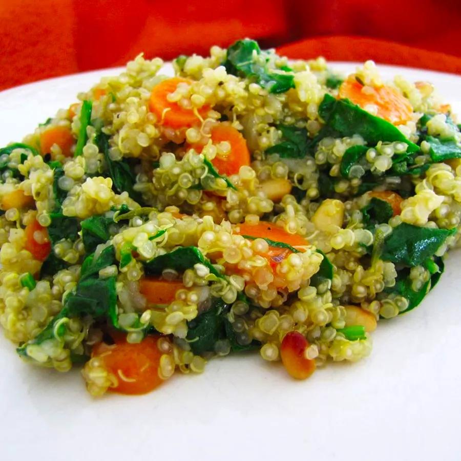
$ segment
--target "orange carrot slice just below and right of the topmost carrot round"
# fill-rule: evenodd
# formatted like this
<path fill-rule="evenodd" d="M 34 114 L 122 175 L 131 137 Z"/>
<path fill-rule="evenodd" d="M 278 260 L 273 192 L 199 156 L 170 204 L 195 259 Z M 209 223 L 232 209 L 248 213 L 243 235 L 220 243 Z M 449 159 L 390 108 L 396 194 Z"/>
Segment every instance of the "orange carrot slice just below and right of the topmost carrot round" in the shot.
<path fill-rule="evenodd" d="M 240 131 L 236 130 L 230 123 L 219 123 L 211 133 L 213 144 L 227 141 L 231 144 L 231 151 L 227 155 L 217 155 L 213 160 L 213 166 L 222 175 L 235 175 L 243 165 L 249 166 L 250 153 L 246 140 Z"/>

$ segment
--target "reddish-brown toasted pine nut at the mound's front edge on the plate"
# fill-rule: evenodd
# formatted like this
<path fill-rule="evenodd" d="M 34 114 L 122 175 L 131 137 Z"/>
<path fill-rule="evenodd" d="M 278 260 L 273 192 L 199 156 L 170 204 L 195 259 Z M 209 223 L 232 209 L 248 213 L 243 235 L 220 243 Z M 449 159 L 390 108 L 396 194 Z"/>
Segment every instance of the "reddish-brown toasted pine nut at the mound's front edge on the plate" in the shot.
<path fill-rule="evenodd" d="M 288 374 L 296 380 L 305 380 L 316 370 L 316 361 L 305 355 L 309 343 L 299 331 L 285 334 L 280 346 L 280 357 Z"/>

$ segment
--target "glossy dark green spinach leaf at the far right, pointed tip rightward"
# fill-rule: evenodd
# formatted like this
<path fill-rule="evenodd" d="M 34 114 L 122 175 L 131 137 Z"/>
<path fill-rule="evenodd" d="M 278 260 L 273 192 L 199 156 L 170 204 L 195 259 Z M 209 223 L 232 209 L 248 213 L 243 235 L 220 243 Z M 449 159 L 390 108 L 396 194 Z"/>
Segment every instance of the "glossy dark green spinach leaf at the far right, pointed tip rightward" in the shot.
<path fill-rule="evenodd" d="M 414 267 L 433 256 L 456 229 L 433 229 L 402 223 L 384 240 L 381 259 Z"/>

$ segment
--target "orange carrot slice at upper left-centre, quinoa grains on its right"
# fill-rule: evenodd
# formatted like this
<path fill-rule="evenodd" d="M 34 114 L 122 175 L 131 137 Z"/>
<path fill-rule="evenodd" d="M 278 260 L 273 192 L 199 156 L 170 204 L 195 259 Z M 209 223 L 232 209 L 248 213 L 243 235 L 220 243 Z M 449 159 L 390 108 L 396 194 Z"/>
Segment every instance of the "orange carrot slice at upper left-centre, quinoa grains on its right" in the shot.
<path fill-rule="evenodd" d="M 157 116 L 158 123 L 174 129 L 189 128 L 200 123 L 200 118 L 193 109 L 185 109 L 177 102 L 170 102 L 167 96 L 176 91 L 179 83 L 191 83 L 192 80 L 173 77 L 158 83 L 151 93 L 149 109 Z M 198 109 L 200 117 L 205 118 L 209 106 Z"/>

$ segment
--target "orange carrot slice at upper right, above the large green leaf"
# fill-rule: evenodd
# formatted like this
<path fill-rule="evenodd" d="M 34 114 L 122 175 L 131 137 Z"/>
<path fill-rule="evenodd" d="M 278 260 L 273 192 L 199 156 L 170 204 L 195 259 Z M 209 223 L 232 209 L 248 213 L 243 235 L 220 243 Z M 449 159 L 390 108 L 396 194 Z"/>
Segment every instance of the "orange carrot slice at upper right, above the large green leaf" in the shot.
<path fill-rule="evenodd" d="M 369 104 L 374 104 L 378 108 L 376 115 L 394 125 L 406 123 L 413 114 L 410 101 L 394 88 L 387 85 L 364 87 L 353 77 L 349 77 L 341 83 L 339 97 L 350 99 L 362 109 L 365 109 Z"/>

